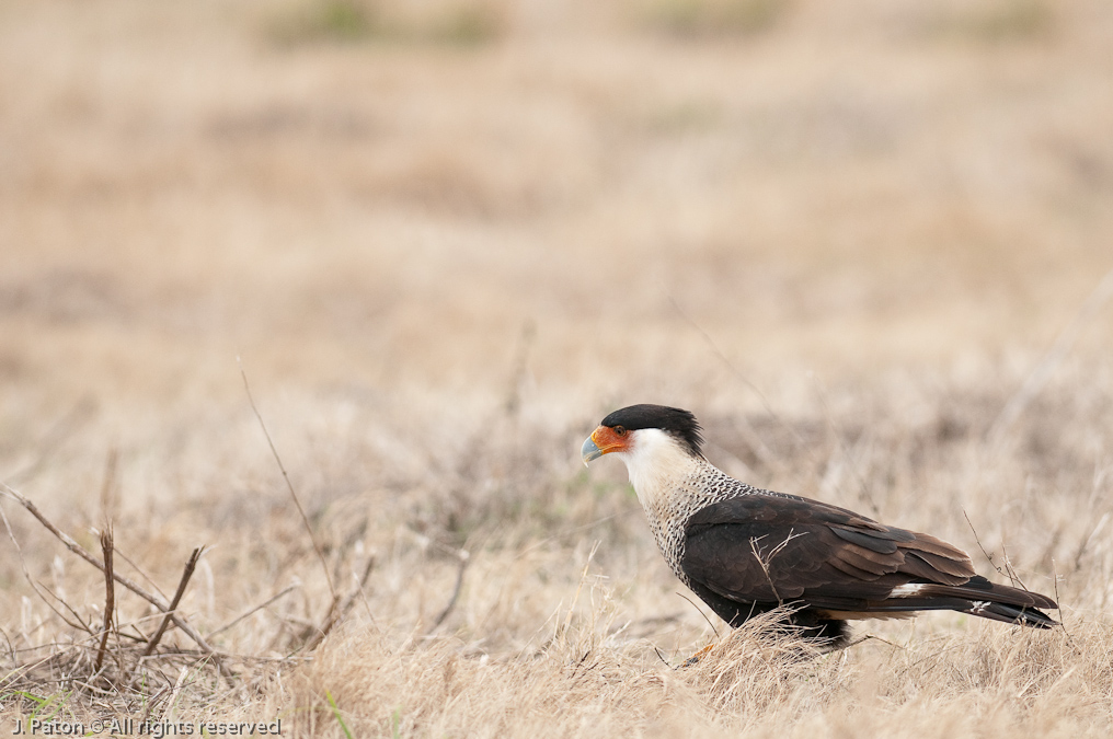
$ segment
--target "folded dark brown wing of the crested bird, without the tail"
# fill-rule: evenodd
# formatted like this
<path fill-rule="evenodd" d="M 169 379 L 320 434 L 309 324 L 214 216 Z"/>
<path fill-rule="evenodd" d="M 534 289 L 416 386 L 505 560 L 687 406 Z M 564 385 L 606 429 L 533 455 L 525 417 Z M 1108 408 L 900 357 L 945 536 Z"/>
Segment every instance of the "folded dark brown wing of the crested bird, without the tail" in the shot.
<path fill-rule="evenodd" d="M 731 601 L 802 600 L 848 611 L 868 610 L 909 582 L 954 587 L 974 577 L 966 553 L 934 536 L 818 501 L 762 494 L 696 513 L 680 565 Z"/>

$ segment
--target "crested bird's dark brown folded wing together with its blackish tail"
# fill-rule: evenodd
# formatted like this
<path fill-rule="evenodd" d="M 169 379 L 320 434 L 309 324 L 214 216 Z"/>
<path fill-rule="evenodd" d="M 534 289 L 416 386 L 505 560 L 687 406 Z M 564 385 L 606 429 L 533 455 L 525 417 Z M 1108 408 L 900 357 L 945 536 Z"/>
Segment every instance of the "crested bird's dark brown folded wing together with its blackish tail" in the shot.
<path fill-rule="evenodd" d="M 795 601 L 833 619 L 951 609 L 1055 624 L 1036 610 L 1057 608 L 1053 600 L 976 575 L 965 552 L 935 536 L 792 495 L 756 493 L 700 510 L 684 528 L 679 564 L 731 623 Z"/>

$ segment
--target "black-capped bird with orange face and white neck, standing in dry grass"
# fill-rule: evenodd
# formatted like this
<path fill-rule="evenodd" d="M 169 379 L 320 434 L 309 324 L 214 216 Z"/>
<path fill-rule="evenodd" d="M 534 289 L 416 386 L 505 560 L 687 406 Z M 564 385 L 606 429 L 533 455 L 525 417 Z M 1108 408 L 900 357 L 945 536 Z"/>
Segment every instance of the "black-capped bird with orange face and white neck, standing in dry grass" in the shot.
<path fill-rule="evenodd" d="M 663 405 L 609 414 L 584 464 L 626 463 L 673 574 L 732 628 L 774 609 L 805 639 L 849 643 L 847 621 L 952 610 L 1036 629 L 1058 624 L 1046 595 L 994 583 L 929 534 L 816 500 L 748 485 L 703 455 L 696 416 Z"/>

